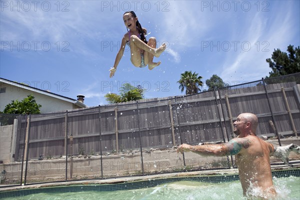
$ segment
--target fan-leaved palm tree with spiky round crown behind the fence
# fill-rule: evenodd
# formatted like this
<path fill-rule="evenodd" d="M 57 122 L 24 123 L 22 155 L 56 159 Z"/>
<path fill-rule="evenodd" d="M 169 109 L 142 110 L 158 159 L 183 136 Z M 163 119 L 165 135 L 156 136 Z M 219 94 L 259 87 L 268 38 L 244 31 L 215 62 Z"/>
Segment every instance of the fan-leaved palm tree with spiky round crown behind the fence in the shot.
<path fill-rule="evenodd" d="M 180 80 L 177 81 L 180 84 L 179 89 L 183 92 L 185 88 L 185 94 L 198 93 L 199 87 L 203 85 L 201 78 L 202 76 L 198 76 L 196 72 L 184 71 L 180 74 Z"/>

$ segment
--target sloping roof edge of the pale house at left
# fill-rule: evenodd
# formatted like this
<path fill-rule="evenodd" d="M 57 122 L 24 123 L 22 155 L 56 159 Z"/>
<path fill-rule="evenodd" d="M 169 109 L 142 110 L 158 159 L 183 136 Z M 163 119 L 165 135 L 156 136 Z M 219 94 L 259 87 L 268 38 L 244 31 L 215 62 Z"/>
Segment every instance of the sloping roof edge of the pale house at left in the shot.
<path fill-rule="evenodd" d="M 16 87 L 21 87 L 23 89 L 34 91 L 34 92 L 44 94 L 44 95 L 47 95 L 47 96 L 51 96 L 51 97 L 54 97 L 54 98 L 58 98 L 58 99 L 61 99 L 61 100 L 67 101 L 67 102 L 71 102 L 71 103 L 74 103 L 75 105 L 77 105 L 79 107 L 86 107 L 86 105 L 84 103 L 81 103 L 80 101 L 78 101 L 76 99 L 69 98 L 69 97 L 66 97 L 66 96 L 62 96 L 60 94 L 55 94 L 53 92 L 42 90 L 42 89 L 32 87 L 32 86 L 29 86 L 29 85 L 26 85 L 26 84 L 22 84 L 22 83 L 19 83 L 19 82 L 7 80 L 7 79 L 1 78 L 1 77 L 0 77 L 0 82 L 4 82 L 6 84 L 10 84 L 10 85 L 13 85 L 13 86 L 16 86 Z"/>

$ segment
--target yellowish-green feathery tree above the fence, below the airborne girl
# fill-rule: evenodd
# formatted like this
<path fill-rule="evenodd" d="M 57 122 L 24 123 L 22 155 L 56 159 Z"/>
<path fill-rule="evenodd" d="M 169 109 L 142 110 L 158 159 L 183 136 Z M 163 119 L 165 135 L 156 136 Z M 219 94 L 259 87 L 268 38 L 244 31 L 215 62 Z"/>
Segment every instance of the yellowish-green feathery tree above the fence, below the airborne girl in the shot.
<path fill-rule="evenodd" d="M 104 97 L 109 103 L 119 103 L 142 99 L 143 94 L 144 89 L 140 85 L 134 87 L 130 83 L 125 83 L 120 87 L 120 94 L 107 93 Z"/>

